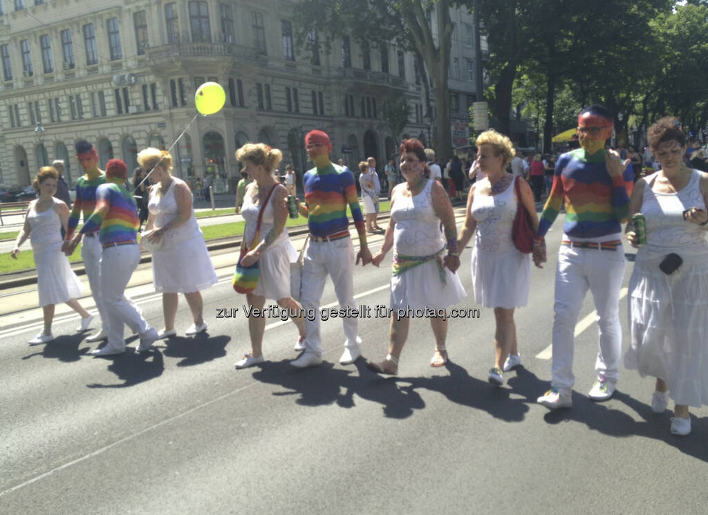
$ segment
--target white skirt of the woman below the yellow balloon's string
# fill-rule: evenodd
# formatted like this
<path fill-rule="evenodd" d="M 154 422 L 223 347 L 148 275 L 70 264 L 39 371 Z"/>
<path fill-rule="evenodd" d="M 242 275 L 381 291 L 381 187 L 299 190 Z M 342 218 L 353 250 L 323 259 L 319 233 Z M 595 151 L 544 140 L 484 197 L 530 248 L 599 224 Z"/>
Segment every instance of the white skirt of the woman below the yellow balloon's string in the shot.
<path fill-rule="evenodd" d="M 217 272 L 202 231 L 186 241 L 152 253 L 152 282 L 155 291 L 166 294 L 193 293 L 217 284 Z"/>

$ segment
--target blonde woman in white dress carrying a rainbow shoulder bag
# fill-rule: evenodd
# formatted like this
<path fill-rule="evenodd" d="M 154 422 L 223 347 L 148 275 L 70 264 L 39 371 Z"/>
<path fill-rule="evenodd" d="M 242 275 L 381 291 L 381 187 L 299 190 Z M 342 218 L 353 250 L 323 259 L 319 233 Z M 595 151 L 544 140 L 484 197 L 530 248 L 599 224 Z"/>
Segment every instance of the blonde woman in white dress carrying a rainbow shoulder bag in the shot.
<path fill-rule="evenodd" d="M 243 163 L 243 170 L 253 180 L 246 187 L 241 214 L 246 220 L 244 241 L 250 244 L 256 236 L 258 214 L 263 209 L 260 241 L 241 259 L 241 265 L 249 267 L 258 262 L 258 285 L 252 293 L 246 294 L 249 306 L 262 309 L 265 299 L 271 299 L 281 308 L 287 309 L 290 319 L 297 325 L 299 338 L 296 350 L 304 349 L 305 324 L 301 306 L 290 296 L 290 263 L 297 260 L 297 251 L 287 236 L 287 190 L 278 183 L 273 171 L 282 161 L 282 153 L 262 143 L 247 143 L 236 151 L 236 159 Z M 265 205 L 265 207 L 263 207 Z M 249 317 L 251 352 L 236 361 L 236 369 L 263 363 L 263 332 L 265 318 Z"/>

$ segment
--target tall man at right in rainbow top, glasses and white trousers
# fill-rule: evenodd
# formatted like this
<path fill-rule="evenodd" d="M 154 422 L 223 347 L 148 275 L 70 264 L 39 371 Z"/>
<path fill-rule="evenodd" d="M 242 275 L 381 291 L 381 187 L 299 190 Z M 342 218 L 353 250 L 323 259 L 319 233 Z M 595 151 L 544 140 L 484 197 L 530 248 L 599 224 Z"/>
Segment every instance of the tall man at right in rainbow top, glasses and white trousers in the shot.
<path fill-rule="evenodd" d="M 534 262 L 545 262 L 544 236 L 564 204 L 566 219 L 556 269 L 551 389 L 537 401 L 551 409 L 573 404 L 574 332 L 588 289 L 595 301 L 600 332 L 597 380 L 588 395 L 602 401 L 615 393 L 622 350 L 619 289 L 624 277 L 624 251 L 620 223 L 627 219 L 634 175 L 629 159 L 623 162 L 616 151 L 605 150 L 612 124 L 612 112 L 602 105 L 590 105 L 581 111 L 581 148 L 563 154 L 556 163 L 534 245 Z"/>

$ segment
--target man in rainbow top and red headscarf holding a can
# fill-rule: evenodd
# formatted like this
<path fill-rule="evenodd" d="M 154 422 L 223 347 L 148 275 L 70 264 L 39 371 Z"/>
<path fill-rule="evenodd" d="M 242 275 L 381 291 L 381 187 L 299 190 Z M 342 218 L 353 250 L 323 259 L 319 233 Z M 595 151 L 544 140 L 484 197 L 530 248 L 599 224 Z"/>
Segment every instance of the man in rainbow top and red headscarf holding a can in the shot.
<path fill-rule="evenodd" d="M 366 243 L 364 217 L 359 206 L 354 176 L 341 166 L 329 161 L 332 144 L 329 136 L 314 130 L 305 137 L 307 155 L 315 167 L 304 174 L 305 205 L 299 211 L 307 216 L 309 245 L 302 268 L 302 307 L 315 313 L 314 320 L 305 318 L 304 346 L 296 345 L 296 350 L 304 350 L 302 355 L 291 361 L 293 366 L 303 368 L 322 362 L 321 337 L 319 332 L 319 302 L 324 284 L 329 275 L 334 283 L 334 291 L 339 306 L 352 316 L 342 317 L 344 328 L 344 353 L 339 362 L 352 364 L 361 356 L 361 339 L 357 335 L 358 320 L 355 315 L 353 270 L 355 262 L 367 265 L 371 253 Z M 354 225 L 359 233 L 360 250 L 354 258 L 354 245 L 349 236 L 347 206 L 352 212 Z"/>

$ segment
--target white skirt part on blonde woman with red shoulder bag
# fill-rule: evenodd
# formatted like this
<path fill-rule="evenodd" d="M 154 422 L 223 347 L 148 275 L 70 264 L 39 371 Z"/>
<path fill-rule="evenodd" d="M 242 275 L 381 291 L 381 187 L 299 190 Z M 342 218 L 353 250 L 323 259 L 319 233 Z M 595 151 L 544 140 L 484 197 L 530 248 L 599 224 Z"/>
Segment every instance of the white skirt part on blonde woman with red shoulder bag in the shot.
<path fill-rule="evenodd" d="M 472 250 L 474 301 L 485 308 L 523 308 L 529 299 L 531 255 L 515 248 L 490 253 Z"/>

